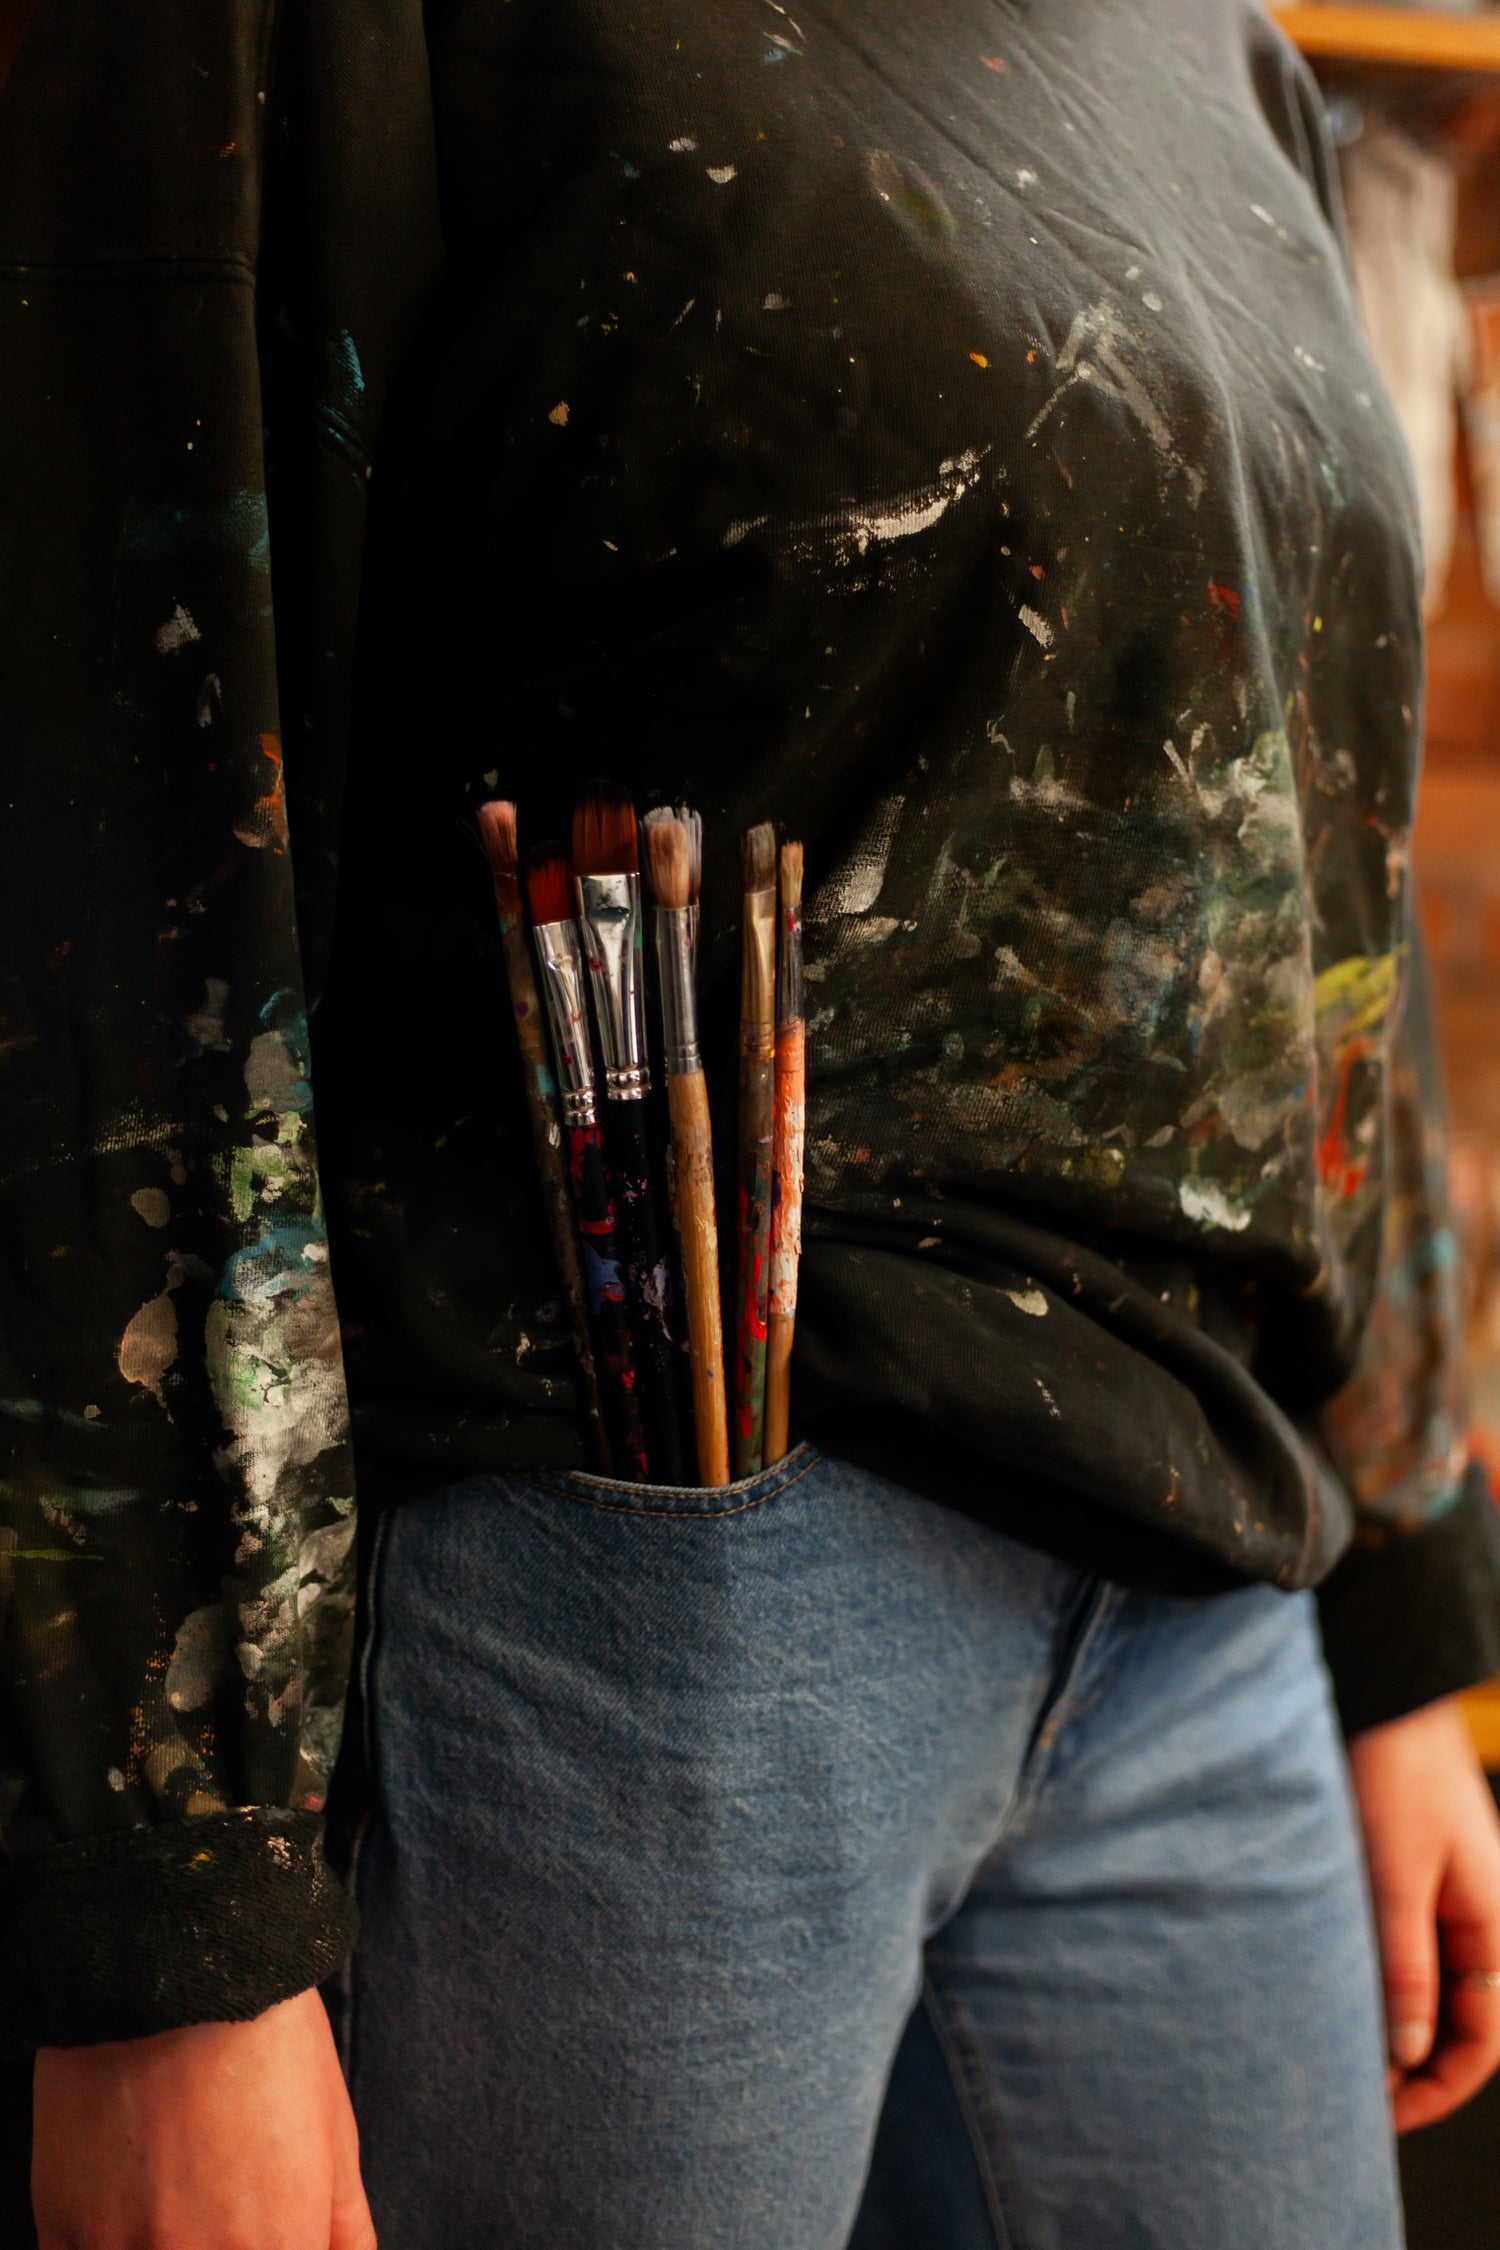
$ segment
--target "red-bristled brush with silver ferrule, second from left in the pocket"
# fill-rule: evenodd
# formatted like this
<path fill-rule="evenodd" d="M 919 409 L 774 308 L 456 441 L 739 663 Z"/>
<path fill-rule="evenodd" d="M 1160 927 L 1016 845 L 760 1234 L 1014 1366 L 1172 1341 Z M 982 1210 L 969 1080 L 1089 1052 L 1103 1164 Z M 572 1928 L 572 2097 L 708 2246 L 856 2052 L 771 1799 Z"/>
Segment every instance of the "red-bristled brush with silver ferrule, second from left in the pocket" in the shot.
<path fill-rule="evenodd" d="M 589 1316 L 598 1343 L 598 1388 L 609 1447 L 621 1472 L 648 1483 L 652 1462 L 641 1429 L 636 1368 L 625 1314 L 625 1278 L 616 1242 L 614 1202 L 605 1174 L 605 1143 L 589 1046 L 589 997 L 582 945 L 573 922 L 573 868 L 564 850 L 533 853 L 526 866 L 531 934 L 537 950 L 542 997 L 553 1035 L 569 1184 L 582 1244 Z"/>

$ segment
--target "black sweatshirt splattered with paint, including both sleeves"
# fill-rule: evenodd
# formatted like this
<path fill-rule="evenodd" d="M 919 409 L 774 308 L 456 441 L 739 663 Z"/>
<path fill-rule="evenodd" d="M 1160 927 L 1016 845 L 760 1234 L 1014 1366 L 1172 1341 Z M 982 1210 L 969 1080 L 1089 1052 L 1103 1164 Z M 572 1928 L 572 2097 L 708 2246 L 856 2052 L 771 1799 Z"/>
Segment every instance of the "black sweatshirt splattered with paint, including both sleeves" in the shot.
<path fill-rule="evenodd" d="M 1412 497 L 1248 0 L 40 0 L 0 398 L 9 2030 L 322 1976 L 355 1469 L 585 1462 L 493 790 L 702 806 L 722 1143 L 807 842 L 803 1429 L 1322 1582 L 1352 1726 L 1500 1665 Z"/>

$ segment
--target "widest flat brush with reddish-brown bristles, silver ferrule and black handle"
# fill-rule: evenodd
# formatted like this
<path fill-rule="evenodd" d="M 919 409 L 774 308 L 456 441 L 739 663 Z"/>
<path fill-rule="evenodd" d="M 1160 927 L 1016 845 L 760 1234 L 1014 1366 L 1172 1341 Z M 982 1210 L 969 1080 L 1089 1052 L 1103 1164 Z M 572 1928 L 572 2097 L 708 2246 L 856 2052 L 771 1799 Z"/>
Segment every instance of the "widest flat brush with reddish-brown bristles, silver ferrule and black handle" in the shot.
<path fill-rule="evenodd" d="M 578 925 L 605 1055 L 609 1177 L 625 1249 L 625 1312 L 636 1357 L 641 1422 L 659 1485 L 684 1483 L 672 1348 L 672 1271 L 652 1186 L 641 952 L 641 848 L 625 790 L 594 783 L 573 812 Z"/>

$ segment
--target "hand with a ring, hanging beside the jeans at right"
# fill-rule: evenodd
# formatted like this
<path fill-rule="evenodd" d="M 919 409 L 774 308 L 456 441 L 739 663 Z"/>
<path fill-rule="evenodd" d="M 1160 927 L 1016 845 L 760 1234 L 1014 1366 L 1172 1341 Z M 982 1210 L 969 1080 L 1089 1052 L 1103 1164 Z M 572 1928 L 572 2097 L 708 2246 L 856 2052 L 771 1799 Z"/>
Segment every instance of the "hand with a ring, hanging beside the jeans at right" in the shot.
<path fill-rule="evenodd" d="M 1397 2133 L 1500 2063 L 1500 1818 L 1446 1699 L 1349 1744 L 1385 1980 Z"/>

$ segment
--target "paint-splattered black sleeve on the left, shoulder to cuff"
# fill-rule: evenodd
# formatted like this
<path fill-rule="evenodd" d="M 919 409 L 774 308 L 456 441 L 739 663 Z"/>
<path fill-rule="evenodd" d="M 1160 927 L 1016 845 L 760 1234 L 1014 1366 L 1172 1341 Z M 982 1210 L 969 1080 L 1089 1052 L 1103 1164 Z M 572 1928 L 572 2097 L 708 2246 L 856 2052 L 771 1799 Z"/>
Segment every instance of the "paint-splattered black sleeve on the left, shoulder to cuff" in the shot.
<path fill-rule="evenodd" d="M 43 0 L 0 97 L 0 2030 L 38 2045 L 254 2016 L 353 1935 L 299 907 L 425 122 L 416 0 Z"/>

